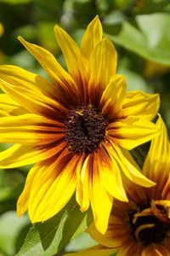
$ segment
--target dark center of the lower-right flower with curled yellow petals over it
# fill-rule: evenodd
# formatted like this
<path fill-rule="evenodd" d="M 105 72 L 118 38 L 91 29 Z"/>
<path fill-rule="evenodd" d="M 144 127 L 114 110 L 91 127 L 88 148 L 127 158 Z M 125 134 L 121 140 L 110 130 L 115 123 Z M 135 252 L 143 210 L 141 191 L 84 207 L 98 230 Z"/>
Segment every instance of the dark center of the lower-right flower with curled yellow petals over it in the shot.
<path fill-rule="evenodd" d="M 135 241 L 141 241 L 144 246 L 163 242 L 170 232 L 170 220 L 163 217 L 166 209 L 157 206 L 156 211 L 160 215 L 156 216 L 149 205 L 139 207 L 138 211 L 128 211 L 131 234 Z"/>

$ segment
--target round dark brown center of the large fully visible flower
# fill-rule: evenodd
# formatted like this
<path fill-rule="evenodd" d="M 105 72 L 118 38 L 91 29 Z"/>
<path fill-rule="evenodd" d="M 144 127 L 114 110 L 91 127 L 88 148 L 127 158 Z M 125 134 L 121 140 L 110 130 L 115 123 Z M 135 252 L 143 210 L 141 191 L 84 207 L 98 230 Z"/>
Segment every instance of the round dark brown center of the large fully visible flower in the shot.
<path fill-rule="evenodd" d="M 65 141 L 76 154 L 90 154 L 105 137 L 107 121 L 91 105 L 71 110 L 65 120 Z"/>

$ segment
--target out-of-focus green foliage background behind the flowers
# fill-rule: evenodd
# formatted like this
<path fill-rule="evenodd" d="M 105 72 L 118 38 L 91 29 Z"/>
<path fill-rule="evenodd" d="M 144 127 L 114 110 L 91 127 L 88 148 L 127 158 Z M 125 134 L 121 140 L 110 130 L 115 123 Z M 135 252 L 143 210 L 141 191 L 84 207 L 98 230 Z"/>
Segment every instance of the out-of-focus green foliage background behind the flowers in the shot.
<path fill-rule="evenodd" d="M 50 50 L 65 67 L 54 38 L 54 24 L 65 28 L 78 44 L 88 23 L 99 15 L 105 36 L 118 52 L 118 73 L 128 90 L 158 92 L 160 113 L 170 131 L 170 2 L 169 0 L 0 0 L 0 63 L 24 67 L 47 76 L 17 40 Z M 8 145 L 1 145 L 0 150 Z M 0 172 L 0 256 L 15 255 L 30 229 L 15 205 L 30 166 Z M 87 235 L 71 241 L 68 251 L 94 244 Z"/>

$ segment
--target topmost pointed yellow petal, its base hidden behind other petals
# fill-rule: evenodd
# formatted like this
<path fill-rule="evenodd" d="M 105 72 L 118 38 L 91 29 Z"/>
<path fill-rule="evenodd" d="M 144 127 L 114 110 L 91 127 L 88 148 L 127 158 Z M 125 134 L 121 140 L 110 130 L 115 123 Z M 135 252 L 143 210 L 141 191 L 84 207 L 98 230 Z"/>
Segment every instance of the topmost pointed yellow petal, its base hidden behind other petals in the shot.
<path fill-rule="evenodd" d="M 102 39 L 103 30 L 101 26 L 101 22 L 99 20 L 99 16 L 96 15 L 94 20 L 92 20 L 83 34 L 82 37 L 82 53 L 87 57 L 90 58 L 90 55 L 95 47 L 96 44 Z"/>

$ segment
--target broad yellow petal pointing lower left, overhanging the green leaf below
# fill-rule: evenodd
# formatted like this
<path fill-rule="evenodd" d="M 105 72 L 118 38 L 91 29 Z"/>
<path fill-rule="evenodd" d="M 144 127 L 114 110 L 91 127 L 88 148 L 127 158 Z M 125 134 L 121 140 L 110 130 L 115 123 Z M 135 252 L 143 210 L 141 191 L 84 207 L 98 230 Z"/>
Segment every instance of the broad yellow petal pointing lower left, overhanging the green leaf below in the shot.
<path fill-rule="evenodd" d="M 79 157 L 66 148 L 54 163 L 43 163 L 29 198 L 28 212 L 33 223 L 53 217 L 71 199 L 77 184 L 78 160 Z"/>

